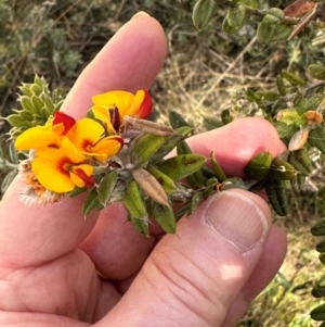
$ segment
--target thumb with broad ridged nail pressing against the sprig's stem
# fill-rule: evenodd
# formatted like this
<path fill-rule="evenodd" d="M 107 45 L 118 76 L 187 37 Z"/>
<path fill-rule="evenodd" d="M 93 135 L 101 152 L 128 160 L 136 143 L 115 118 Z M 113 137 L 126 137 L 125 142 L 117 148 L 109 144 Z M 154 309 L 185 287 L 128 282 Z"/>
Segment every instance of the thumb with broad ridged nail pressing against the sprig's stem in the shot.
<path fill-rule="evenodd" d="M 178 223 L 178 235 L 160 240 L 121 301 L 95 326 L 232 326 L 283 260 L 283 234 L 272 232 L 283 255 L 271 259 L 271 267 L 265 263 L 270 229 L 269 206 L 258 196 L 229 190 L 211 197 Z M 251 282 L 255 274 L 264 278 Z"/>

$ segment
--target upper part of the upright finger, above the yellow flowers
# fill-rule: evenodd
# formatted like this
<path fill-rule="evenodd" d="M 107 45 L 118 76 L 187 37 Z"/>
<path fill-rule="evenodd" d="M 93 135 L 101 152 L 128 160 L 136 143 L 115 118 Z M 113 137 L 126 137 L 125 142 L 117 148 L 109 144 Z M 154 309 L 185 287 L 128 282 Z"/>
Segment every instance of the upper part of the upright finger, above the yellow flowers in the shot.
<path fill-rule="evenodd" d="M 166 54 L 166 36 L 158 21 L 143 12 L 135 14 L 83 70 L 61 110 L 80 118 L 94 95 L 148 89 Z"/>

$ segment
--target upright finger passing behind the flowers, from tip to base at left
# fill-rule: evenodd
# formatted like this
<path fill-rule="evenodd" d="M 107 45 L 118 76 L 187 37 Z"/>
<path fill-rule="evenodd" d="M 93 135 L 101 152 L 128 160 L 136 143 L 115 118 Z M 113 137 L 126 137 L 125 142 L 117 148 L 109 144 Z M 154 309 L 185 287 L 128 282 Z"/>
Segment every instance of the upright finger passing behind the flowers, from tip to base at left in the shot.
<path fill-rule="evenodd" d="M 91 97 L 112 89 L 150 88 L 166 55 L 165 34 L 147 15 L 138 15 L 113 37 L 83 71 L 62 110 L 84 116 Z M 84 217 L 82 197 L 27 206 L 20 201 L 24 181 L 17 176 L 0 202 L 0 264 L 39 265 L 76 248 L 91 231 L 98 213 Z"/>

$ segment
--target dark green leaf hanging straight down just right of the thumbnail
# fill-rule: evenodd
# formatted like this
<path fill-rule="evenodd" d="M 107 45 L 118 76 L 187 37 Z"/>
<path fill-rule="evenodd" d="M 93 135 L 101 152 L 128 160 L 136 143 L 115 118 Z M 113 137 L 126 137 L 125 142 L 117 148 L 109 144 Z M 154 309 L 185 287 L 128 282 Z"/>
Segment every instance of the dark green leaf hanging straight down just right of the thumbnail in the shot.
<path fill-rule="evenodd" d="M 286 216 L 288 213 L 287 186 L 284 180 L 268 179 L 265 190 L 273 210 L 280 216 Z"/>

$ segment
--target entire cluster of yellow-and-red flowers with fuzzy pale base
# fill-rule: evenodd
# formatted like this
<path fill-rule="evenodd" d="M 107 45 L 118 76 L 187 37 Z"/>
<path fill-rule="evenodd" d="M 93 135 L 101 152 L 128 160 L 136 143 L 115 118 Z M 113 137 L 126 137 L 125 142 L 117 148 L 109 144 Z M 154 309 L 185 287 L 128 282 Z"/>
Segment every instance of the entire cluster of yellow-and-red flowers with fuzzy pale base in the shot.
<path fill-rule="evenodd" d="M 94 118 L 76 121 L 57 111 L 44 126 L 31 127 L 16 138 L 16 150 L 29 150 L 29 158 L 21 164 L 28 196 L 55 202 L 76 187 L 94 186 L 94 166 L 123 147 L 125 116 L 145 118 L 152 112 L 147 90 L 135 95 L 109 91 L 92 101 L 89 116 Z"/>

